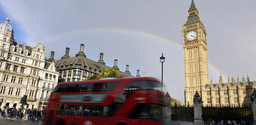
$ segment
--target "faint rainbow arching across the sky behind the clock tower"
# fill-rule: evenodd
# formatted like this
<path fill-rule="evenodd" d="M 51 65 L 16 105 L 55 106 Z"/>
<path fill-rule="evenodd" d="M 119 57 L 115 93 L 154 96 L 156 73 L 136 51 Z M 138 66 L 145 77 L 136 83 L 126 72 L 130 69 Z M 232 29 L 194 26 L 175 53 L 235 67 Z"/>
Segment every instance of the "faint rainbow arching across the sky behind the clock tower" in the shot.
<path fill-rule="evenodd" d="M 171 45 L 178 47 L 180 50 L 183 50 L 183 46 L 175 41 L 168 40 L 167 38 L 164 38 L 164 37 L 161 37 L 158 35 L 154 35 L 152 33 L 147 33 L 147 32 L 143 32 L 143 31 L 139 31 L 139 30 L 130 30 L 130 29 L 126 29 L 126 28 L 85 28 L 85 29 L 73 30 L 73 31 L 69 31 L 69 32 L 60 33 L 58 35 L 53 35 L 51 37 L 43 38 L 43 39 L 36 40 L 36 41 L 31 41 L 29 43 L 45 43 L 47 41 L 54 40 L 56 38 L 67 37 L 68 35 L 73 35 L 76 33 L 87 33 L 87 32 L 88 33 L 112 32 L 112 33 L 125 33 L 128 35 L 138 35 L 140 37 L 141 36 L 148 37 L 152 40 L 168 42 L 168 43 L 171 43 Z M 220 74 L 221 71 L 216 66 L 214 66 L 211 63 L 208 63 L 208 66 L 209 66 L 209 69 L 211 71 L 213 71 L 215 74 L 217 74 L 217 75 Z M 222 74 L 222 78 L 223 78 L 224 82 L 227 82 L 227 77 L 225 75 Z"/>

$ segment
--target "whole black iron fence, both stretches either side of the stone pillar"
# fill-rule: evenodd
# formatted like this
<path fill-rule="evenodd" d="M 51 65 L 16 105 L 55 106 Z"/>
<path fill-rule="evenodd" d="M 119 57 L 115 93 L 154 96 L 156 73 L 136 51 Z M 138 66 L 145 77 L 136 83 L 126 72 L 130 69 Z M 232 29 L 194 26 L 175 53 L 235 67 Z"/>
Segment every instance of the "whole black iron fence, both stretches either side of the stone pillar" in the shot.
<path fill-rule="evenodd" d="M 236 121 L 237 123 L 252 124 L 254 114 L 252 107 L 202 107 L 202 119 L 204 124 L 217 124 L 223 120 L 227 122 Z M 171 107 L 172 121 L 194 121 L 194 107 L 173 106 Z"/>

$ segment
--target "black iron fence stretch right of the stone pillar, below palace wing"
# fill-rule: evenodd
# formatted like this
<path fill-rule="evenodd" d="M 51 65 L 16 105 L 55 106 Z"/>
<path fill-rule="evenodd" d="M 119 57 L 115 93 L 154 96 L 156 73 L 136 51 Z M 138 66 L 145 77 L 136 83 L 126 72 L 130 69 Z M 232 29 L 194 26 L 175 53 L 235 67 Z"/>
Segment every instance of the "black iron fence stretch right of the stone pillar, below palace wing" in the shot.
<path fill-rule="evenodd" d="M 202 119 L 204 123 L 218 123 L 223 120 L 227 122 L 252 124 L 254 114 L 251 107 L 202 107 Z"/>

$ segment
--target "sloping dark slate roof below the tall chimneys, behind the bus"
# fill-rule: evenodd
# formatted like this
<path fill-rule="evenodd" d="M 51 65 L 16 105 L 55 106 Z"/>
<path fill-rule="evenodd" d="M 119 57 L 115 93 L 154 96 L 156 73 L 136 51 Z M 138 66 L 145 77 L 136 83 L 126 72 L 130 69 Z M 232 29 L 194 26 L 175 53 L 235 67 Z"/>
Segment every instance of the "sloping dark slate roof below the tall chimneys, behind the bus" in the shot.
<path fill-rule="evenodd" d="M 55 67 L 57 71 L 66 69 L 83 69 L 86 71 L 94 72 L 98 74 L 102 69 L 111 68 L 102 63 L 98 63 L 91 59 L 85 58 L 84 56 L 75 56 L 72 58 L 64 58 L 55 61 Z M 124 77 L 133 77 L 133 75 L 126 74 L 125 72 L 118 71 L 118 74 Z"/>

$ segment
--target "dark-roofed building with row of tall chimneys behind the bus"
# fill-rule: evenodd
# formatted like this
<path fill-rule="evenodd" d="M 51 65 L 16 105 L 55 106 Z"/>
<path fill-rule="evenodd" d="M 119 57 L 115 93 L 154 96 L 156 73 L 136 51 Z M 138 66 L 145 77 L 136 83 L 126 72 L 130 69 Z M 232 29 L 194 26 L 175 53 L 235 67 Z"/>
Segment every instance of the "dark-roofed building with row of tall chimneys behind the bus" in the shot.
<path fill-rule="evenodd" d="M 105 65 L 103 53 L 100 53 L 98 62 L 86 58 L 83 52 L 83 44 L 80 45 L 80 51 L 75 54 L 75 57 L 70 58 L 69 50 L 69 48 L 66 48 L 64 56 L 60 60 L 55 61 L 55 67 L 60 74 L 59 82 L 87 80 L 87 77 L 98 74 L 102 69 L 111 68 Z M 115 59 L 113 67 L 116 67 L 118 74 L 123 75 L 123 77 L 133 77 L 129 71 L 129 65 L 126 65 L 125 72 L 121 72 L 117 66 L 117 59 Z M 139 70 L 137 71 L 136 77 L 140 77 Z"/>

